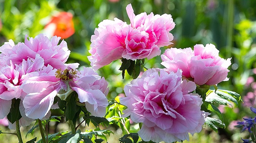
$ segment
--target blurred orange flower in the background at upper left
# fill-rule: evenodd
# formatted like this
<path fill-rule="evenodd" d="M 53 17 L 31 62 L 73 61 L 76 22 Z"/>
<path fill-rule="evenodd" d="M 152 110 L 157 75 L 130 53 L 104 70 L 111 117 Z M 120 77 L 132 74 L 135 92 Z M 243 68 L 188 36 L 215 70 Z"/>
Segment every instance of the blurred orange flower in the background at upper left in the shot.
<path fill-rule="evenodd" d="M 51 21 L 45 25 L 44 29 L 50 36 L 58 36 L 67 39 L 75 33 L 73 15 L 69 12 L 60 12 L 53 16 Z"/>

